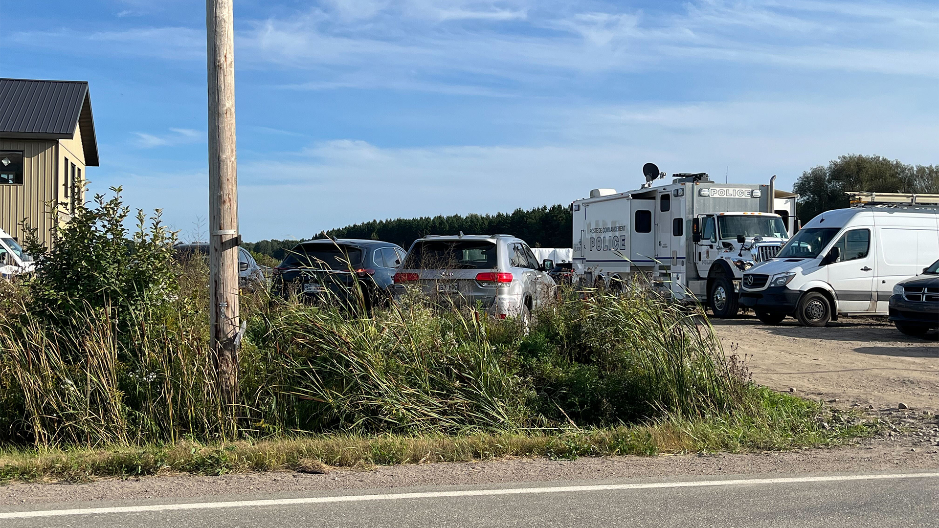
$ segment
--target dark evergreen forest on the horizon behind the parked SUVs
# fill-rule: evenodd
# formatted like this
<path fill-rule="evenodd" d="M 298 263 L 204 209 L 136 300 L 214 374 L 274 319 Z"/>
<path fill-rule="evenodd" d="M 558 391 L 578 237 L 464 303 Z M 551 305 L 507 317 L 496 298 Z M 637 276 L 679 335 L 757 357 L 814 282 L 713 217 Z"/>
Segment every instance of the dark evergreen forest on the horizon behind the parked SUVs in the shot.
<path fill-rule="evenodd" d="M 339 239 L 367 239 L 393 242 L 408 249 L 411 242 L 424 235 L 514 235 L 532 247 L 571 247 L 571 212 L 562 205 L 496 214 L 454 214 L 373 220 L 362 224 L 331 229 L 326 235 Z M 323 238 L 323 234 L 311 237 Z M 283 259 L 300 241 L 258 241 L 241 246 L 254 253 Z"/>

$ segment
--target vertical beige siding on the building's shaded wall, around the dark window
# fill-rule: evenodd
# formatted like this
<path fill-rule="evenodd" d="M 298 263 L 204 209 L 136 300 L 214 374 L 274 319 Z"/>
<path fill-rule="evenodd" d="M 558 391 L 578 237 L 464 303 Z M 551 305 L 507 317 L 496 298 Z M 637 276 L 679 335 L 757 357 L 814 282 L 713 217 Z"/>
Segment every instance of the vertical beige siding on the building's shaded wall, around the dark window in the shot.
<path fill-rule="evenodd" d="M 23 220 L 38 227 L 39 238 L 47 244 L 52 218 L 47 202 L 54 199 L 52 179 L 57 142 L 0 139 L 0 149 L 23 150 L 23 185 L 0 185 L 0 228 L 23 240 Z"/>

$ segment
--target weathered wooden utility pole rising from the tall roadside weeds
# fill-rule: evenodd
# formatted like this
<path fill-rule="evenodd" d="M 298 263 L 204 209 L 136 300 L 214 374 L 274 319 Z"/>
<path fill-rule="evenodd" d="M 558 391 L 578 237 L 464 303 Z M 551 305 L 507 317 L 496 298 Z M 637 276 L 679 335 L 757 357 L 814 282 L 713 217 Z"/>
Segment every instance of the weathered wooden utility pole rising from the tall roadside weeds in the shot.
<path fill-rule="evenodd" d="M 238 397 L 238 175 L 232 0 L 206 0 L 208 29 L 209 313 L 219 396 Z"/>

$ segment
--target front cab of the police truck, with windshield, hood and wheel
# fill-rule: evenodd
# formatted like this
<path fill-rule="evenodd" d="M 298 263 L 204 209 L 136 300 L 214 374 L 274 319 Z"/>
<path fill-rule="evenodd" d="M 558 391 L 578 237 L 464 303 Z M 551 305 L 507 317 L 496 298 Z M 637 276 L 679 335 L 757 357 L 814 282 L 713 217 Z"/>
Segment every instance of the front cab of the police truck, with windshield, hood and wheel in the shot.
<path fill-rule="evenodd" d="M 692 259 L 717 317 L 737 314 L 744 272 L 776 256 L 789 240 L 782 216 L 770 212 L 717 212 L 693 220 Z"/>

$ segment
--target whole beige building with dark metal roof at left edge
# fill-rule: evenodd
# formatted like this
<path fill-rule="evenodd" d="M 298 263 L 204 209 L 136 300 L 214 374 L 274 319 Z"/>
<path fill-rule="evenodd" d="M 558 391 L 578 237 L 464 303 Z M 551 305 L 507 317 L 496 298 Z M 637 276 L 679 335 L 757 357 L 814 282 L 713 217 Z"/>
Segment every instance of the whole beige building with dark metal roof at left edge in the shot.
<path fill-rule="evenodd" d="M 98 164 L 87 82 L 0 78 L 0 228 L 22 240 L 25 222 L 50 243 Z"/>

